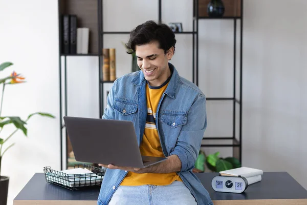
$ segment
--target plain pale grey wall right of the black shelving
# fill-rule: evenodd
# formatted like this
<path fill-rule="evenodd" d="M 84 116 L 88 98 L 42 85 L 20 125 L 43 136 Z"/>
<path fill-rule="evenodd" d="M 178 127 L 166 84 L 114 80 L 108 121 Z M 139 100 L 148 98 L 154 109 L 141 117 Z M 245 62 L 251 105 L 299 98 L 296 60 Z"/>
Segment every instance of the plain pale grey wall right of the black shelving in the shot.
<path fill-rule="evenodd" d="M 307 188 L 307 1 L 245 1 L 243 163 Z"/>

